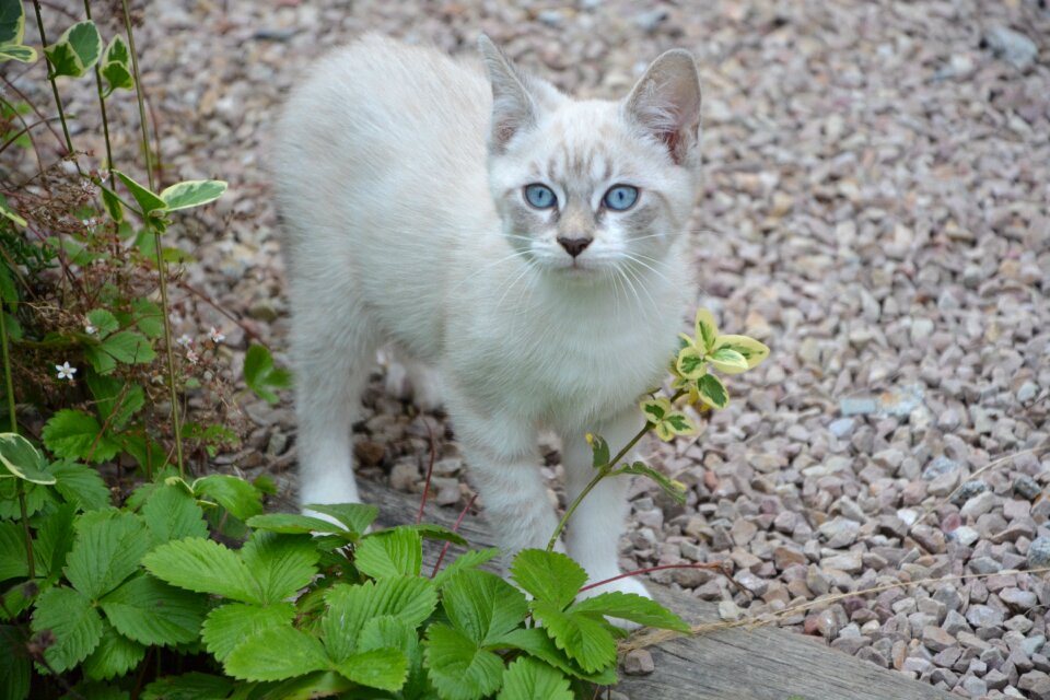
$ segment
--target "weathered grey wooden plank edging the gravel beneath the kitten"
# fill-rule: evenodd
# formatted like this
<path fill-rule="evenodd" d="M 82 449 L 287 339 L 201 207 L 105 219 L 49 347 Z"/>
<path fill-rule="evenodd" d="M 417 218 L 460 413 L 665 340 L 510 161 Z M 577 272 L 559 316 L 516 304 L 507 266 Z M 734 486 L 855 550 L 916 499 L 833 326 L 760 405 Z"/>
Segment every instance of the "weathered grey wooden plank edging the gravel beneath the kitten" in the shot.
<path fill-rule="evenodd" d="M 418 501 L 361 482 L 362 497 L 380 506 L 380 524 L 409 523 Z M 428 508 L 425 520 L 451 526 L 456 513 Z M 459 532 L 472 546 L 489 546 L 483 517 L 467 516 Z M 428 552 L 433 565 L 436 550 Z M 691 623 L 718 620 L 716 606 L 650 583 L 664 605 Z M 617 690 L 631 700 L 948 700 L 931 686 L 879 668 L 819 642 L 775 628 L 734 628 L 662 642 L 649 650 L 649 676 L 621 676 Z"/>

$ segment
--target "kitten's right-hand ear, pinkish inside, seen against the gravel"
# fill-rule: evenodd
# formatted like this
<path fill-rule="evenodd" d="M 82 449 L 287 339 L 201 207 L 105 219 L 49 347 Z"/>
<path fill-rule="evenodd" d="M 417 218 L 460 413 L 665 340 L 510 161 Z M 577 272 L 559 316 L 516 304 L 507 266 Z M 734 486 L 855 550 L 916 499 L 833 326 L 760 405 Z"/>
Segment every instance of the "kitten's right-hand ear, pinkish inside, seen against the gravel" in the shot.
<path fill-rule="evenodd" d="M 700 74 L 689 51 L 662 54 L 623 103 L 627 118 L 667 147 L 675 163 L 692 161 L 700 140 Z"/>

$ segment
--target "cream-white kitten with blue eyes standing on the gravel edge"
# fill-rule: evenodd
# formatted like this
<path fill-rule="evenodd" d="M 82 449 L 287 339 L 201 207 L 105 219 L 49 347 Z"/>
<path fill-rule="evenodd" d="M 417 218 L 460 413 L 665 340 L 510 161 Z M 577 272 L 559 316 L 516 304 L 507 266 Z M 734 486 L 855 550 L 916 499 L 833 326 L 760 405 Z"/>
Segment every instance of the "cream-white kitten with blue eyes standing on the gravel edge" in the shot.
<path fill-rule="evenodd" d="M 478 46 L 454 60 L 370 35 L 323 59 L 279 120 L 276 194 L 301 502 L 358 502 L 350 425 L 392 345 L 417 399 L 443 402 L 509 557 L 557 524 L 537 431 L 560 434 L 574 498 L 586 433 L 627 444 L 677 348 L 700 85 L 674 49 L 626 98 L 578 101 Z M 620 573 L 627 487 L 603 481 L 559 542 L 591 582 Z"/>

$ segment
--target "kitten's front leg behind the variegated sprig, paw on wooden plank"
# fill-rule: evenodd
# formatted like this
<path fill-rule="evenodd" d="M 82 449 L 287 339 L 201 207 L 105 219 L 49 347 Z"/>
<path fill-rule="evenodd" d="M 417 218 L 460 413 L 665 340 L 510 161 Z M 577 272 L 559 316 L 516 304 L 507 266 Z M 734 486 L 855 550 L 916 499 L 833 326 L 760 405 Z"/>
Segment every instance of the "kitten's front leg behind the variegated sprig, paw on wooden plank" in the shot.
<path fill-rule="evenodd" d="M 603 425 L 595 425 L 591 432 L 599 434 L 609 443 L 616 454 L 641 430 L 645 420 L 635 407 L 631 407 Z M 625 457 L 625 460 L 632 455 Z M 567 503 L 573 499 L 594 478 L 591 447 L 586 442 L 586 432 L 565 432 L 562 434 L 561 462 L 565 470 Z M 630 477 L 607 477 L 588 493 L 569 521 L 565 542 L 569 555 L 587 571 L 587 583 L 606 581 L 620 575 L 618 549 L 620 535 L 627 521 L 627 489 Z M 620 591 L 651 597 L 645 586 L 634 576 L 619 579 L 584 593 L 584 597 Z"/>

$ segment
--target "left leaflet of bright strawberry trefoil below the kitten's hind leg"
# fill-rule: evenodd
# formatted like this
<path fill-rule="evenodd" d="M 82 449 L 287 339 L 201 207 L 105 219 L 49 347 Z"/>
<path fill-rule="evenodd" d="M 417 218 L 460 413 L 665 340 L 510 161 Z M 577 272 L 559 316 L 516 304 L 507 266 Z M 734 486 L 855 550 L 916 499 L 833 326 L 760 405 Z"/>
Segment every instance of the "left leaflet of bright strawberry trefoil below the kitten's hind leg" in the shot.
<path fill-rule="evenodd" d="M 210 539 L 186 538 L 161 545 L 142 560 L 147 570 L 173 586 L 244 603 L 262 603 L 244 561 Z"/>

